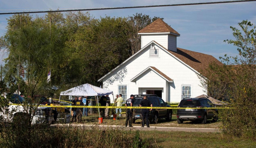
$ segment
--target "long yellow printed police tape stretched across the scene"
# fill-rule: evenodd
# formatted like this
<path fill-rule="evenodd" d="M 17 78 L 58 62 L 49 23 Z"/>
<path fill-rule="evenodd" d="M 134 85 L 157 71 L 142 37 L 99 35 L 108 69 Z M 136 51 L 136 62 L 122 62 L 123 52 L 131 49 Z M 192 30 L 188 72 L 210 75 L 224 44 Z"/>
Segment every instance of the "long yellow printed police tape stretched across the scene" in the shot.
<path fill-rule="evenodd" d="M 21 104 L 12 104 L 12 105 L 21 105 Z M 22 105 L 21 105 L 22 106 Z M 37 105 L 31 105 L 37 106 Z M 65 107 L 65 108 L 132 108 L 132 109 L 234 109 L 234 107 L 137 107 L 137 106 L 70 106 L 70 105 L 58 105 L 58 106 L 50 106 L 50 105 L 38 105 L 38 107 Z"/>

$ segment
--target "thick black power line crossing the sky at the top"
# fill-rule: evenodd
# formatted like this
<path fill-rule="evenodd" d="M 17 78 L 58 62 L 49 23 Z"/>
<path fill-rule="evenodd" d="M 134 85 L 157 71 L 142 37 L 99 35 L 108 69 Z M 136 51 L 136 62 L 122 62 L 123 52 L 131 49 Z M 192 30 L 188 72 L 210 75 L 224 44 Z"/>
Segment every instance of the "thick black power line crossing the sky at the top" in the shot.
<path fill-rule="evenodd" d="M 87 8 L 87 9 L 69 9 L 69 10 L 48 10 L 48 11 L 27 11 L 27 12 L 7 12 L 4 14 L 24 14 L 24 13 L 48 13 L 48 12 L 71 12 L 71 11 L 93 11 L 93 10 L 113 10 L 113 9 L 132 9 L 132 8 L 150 8 L 150 7 L 170 7 L 170 6 L 189 6 L 189 5 L 209 5 L 209 4 L 225 4 L 238 2 L 251 2 L 256 0 L 236 0 L 236 1 L 220 1 L 220 2 L 205 2 L 205 3 L 186 3 L 186 4 L 170 4 L 170 5 L 150 5 L 150 6 L 133 6 L 133 7 L 108 7 L 108 8 Z"/>

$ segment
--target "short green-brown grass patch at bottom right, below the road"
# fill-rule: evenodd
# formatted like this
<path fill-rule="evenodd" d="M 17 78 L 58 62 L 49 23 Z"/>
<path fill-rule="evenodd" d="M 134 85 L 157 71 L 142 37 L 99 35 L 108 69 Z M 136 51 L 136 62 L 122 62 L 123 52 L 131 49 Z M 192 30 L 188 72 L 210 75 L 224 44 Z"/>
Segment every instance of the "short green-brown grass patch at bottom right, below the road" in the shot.
<path fill-rule="evenodd" d="M 142 138 L 155 139 L 159 147 L 256 147 L 256 141 L 222 133 L 140 131 Z"/>

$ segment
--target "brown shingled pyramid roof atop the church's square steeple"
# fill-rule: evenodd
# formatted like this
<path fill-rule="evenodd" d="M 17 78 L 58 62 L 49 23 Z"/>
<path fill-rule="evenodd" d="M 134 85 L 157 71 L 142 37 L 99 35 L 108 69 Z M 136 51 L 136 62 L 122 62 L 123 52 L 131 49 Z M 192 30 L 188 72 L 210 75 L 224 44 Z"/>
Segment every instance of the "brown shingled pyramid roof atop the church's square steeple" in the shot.
<path fill-rule="evenodd" d="M 170 27 L 160 18 L 155 20 L 154 22 L 152 22 L 142 30 L 140 30 L 138 33 L 161 33 L 161 32 L 170 32 L 180 36 L 180 34 L 177 31 L 175 31 L 172 27 Z"/>

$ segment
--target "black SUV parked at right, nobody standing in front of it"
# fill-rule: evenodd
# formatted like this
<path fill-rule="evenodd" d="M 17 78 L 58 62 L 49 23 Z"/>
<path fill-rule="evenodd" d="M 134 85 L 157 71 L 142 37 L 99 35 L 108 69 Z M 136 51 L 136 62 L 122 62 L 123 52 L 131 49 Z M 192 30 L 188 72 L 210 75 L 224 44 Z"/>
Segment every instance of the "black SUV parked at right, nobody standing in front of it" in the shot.
<path fill-rule="evenodd" d="M 185 98 L 180 101 L 179 107 L 198 108 L 198 109 L 178 109 L 177 122 L 183 123 L 185 120 L 199 120 L 205 124 L 207 119 L 218 120 L 217 109 L 202 109 L 204 107 L 214 107 L 213 103 L 207 98 Z"/>

